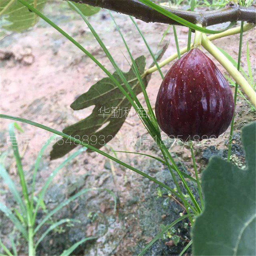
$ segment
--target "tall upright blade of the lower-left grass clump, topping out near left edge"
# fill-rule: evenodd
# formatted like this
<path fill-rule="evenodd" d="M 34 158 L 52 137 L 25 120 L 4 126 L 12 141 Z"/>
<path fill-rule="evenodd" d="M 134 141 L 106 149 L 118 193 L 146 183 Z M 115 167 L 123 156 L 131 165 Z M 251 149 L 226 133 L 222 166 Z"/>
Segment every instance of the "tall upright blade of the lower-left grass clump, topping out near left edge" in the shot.
<path fill-rule="evenodd" d="M 13 124 L 9 125 L 9 135 L 12 140 L 13 140 L 13 138 L 17 139 L 17 137 L 15 136 L 15 133 L 14 133 L 14 125 Z M 12 149 L 13 149 L 13 154 L 15 157 L 16 165 L 17 165 L 18 174 L 20 177 L 20 185 L 22 188 L 22 194 L 24 196 L 25 205 L 27 206 L 27 211 L 28 211 L 30 209 L 29 197 L 28 197 L 28 187 L 27 187 L 27 183 L 25 180 L 25 174 L 24 174 L 22 164 L 21 164 L 20 153 L 19 153 L 19 148 L 18 148 L 17 142 L 12 141 Z M 29 214 L 29 212 L 27 212 L 27 214 Z"/>

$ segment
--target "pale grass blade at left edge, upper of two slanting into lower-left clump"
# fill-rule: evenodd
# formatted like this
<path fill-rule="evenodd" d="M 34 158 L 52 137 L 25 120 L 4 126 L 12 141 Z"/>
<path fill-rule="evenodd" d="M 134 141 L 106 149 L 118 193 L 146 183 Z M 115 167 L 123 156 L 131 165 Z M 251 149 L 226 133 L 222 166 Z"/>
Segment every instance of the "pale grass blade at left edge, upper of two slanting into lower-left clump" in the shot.
<path fill-rule="evenodd" d="M 15 184 L 13 183 L 10 175 L 8 174 L 8 172 L 5 170 L 4 166 L 1 164 L 0 165 L 0 175 L 3 178 L 4 182 L 6 183 L 6 185 L 8 186 L 8 188 L 10 189 L 13 198 L 15 199 L 15 201 L 17 202 L 17 204 L 20 207 L 20 210 L 22 212 L 23 216 L 26 216 L 26 207 L 20 197 L 20 194 L 15 186 Z"/>

